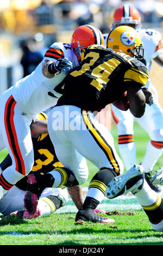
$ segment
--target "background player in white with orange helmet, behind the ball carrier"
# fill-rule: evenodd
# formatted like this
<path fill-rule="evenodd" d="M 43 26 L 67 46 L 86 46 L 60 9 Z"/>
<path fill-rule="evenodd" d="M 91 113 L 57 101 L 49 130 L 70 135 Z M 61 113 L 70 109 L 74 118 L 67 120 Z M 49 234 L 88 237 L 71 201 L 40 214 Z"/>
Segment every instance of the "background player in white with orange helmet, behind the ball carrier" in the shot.
<path fill-rule="evenodd" d="M 144 47 L 144 59 L 148 70 L 150 71 L 151 69 L 152 59 L 163 67 L 161 59 L 163 47 L 161 34 L 154 29 L 141 29 L 141 17 L 135 7 L 125 4 L 115 10 L 112 28 L 122 25 L 133 27 L 139 32 Z M 156 91 L 150 79 L 146 83 L 146 88 L 151 92 Z M 156 161 L 162 155 L 163 150 L 163 111 L 154 94 L 153 101 L 151 106 L 146 105 L 145 114 L 138 119 L 135 119 L 129 110 L 121 111 L 114 105 L 111 105 L 111 113 L 118 128 L 118 149 L 127 170 L 136 164 L 134 120 L 148 133 L 150 141 L 147 144 L 146 154 L 143 157 L 141 165 L 145 171 L 146 180 L 154 190 L 158 191 L 158 187 L 151 184 L 150 179 L 152 178 L 152 169 Z M 162 177 L 162 175 L 160 177 Z M 159 179 L 157 180 L 159 181 Z M 158 182 L 158 184 L 160 184 L 160 182 Z"/>

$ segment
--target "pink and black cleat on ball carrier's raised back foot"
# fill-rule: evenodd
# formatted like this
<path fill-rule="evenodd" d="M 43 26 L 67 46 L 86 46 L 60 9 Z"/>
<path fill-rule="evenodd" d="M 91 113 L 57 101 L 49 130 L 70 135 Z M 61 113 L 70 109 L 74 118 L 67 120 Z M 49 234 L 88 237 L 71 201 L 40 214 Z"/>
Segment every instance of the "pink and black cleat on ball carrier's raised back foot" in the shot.
<path fill-rule="evenodd" d="M 27 183 L 32 185 L 36 183 L 36 178 L 33 174 L 28 175 Z M 34 215 L 37 209 L 39 198 L 36 194 L 32 193 L 31 191 L 26 191 L 24 197 L 24 206 L 30 215 Z"/>

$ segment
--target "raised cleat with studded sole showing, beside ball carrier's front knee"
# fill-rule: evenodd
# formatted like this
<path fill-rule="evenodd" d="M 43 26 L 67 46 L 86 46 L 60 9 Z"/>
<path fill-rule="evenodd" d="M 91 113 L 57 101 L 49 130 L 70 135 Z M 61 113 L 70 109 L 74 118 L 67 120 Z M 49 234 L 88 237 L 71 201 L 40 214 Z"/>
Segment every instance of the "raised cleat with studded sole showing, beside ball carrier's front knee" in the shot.
<path fill-rule="evenodd" d="M 107 198 L 112 199 L 129 191 L 135 194 L 142 188 L 143 181 L 143 167 L 135 164 L 126 173 L 113 178 L 109 182 L 105 195 Z"/>

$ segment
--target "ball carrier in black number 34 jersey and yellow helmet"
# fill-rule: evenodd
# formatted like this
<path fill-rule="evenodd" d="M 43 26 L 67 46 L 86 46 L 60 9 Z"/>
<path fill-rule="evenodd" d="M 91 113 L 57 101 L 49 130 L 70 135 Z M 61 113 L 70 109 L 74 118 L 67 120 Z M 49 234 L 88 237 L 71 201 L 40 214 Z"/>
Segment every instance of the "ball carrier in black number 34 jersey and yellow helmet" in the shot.
<path fill-rule="evenodd" d="M 81 185 L 85 181 L 77 152 L 98 168 L 90 181 L 84 204 L 77 212 L 76 221 L 109 222 L 93 210 L 105 197 L 109 181 L 123 173 L 114 139 L 96 119 L 97 111 L 121 99 L 127 91 L 131 113 L 140 118 L 145 112 L 146 97 L 141 87 L 148 80 L 148 70 L 140 62 L 143 49 L 139 34 L 128 26 L 115 28 L 108 36 L 107 48 L 92 45 L 81 49 L 82 64 L 68 76 L 64 94 L 48 118 L 48 132 L 55 145 L 55 153 L 66 167 L 55 168 L 44 175 L 45 179 L 51 179 L 51 186 Z M 29 176 L 26 195 L 30 203 L 36 197 L 34 205 L 39 197 L 37 181 L 41 180 L 41 176 Z M 46 184 L 45 179 L 40 183 L 40 190 L 43 189 L 43 182 Z M 30 182 L 33 184 L 30 185 Z M 30 204 L 27 210 L 30 210 Z"/>

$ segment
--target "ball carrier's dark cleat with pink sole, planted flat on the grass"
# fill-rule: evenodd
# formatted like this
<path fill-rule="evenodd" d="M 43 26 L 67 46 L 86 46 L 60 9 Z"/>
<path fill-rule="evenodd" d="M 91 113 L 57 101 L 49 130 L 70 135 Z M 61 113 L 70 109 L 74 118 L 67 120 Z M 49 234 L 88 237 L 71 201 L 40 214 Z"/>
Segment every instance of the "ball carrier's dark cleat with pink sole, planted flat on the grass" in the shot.
<path fill-rule="evenodd" d="M 76 222 L 79 220 L 91 221 L 98 223 L 112 223 L 115 220 L 111 218 L 103 218 L 95 214 L 93 209 L 79 210 L 76 215 Z"/>

